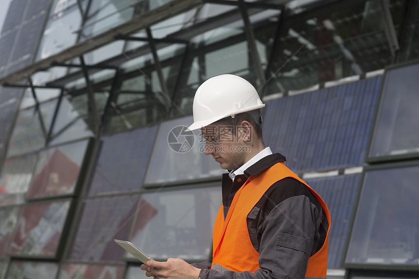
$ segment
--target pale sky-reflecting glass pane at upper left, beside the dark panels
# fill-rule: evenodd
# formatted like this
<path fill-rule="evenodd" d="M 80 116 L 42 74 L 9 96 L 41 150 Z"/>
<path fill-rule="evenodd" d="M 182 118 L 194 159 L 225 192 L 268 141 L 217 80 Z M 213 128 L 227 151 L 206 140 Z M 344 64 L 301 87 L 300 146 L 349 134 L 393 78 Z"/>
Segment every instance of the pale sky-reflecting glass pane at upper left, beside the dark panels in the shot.
<path fill-rule="evenodd" d="M 88 0 L 79 1 L 83 11 L 86 10 Z M 39 45 L 36 60 L 53 56 L 76 43 L 76 32 L 82 22 L 82 13 L 77 0 L 55 0 L 43 37 Z"/>

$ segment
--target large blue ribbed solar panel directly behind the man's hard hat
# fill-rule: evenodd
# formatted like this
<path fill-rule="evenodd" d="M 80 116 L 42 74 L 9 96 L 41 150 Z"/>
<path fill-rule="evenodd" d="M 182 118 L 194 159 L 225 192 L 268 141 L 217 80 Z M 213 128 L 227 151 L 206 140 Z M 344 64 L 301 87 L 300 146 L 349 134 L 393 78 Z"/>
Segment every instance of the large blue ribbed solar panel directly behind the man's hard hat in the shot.
<path fill-rule="evenodd" d="M 382 76 L 267 102 L 264 140 L 294 171 L 364 164 Z"/>

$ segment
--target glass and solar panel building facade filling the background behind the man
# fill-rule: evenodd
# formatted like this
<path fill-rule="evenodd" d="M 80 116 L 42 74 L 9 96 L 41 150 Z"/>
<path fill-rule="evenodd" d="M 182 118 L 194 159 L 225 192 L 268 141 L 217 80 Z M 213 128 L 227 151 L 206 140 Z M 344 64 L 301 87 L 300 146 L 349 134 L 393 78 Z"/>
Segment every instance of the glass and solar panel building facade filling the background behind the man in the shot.
<path fill-rule="evenodd" d="M 419 0 L 241 2 L 1 1 L 0 279 L 210 260 L 225 171 L 185 128 L 226 73 L 329 205 L 327 278 L 414 278 Z"/>

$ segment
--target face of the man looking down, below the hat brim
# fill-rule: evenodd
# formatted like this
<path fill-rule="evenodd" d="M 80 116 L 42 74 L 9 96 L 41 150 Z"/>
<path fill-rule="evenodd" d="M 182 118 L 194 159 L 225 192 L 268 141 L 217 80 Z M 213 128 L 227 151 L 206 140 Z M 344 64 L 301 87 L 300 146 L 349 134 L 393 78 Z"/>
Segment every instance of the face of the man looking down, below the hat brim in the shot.
<path fill-rule="evenodd" d="M 237 169 L 245 163 L 243 142 L 240 138 L 240 129 L 236 135 L 231 127 L 223 123 L 213 123 L 201 129 L 205 138 L 205 155 L 212 155 L 223 169 Z"/>

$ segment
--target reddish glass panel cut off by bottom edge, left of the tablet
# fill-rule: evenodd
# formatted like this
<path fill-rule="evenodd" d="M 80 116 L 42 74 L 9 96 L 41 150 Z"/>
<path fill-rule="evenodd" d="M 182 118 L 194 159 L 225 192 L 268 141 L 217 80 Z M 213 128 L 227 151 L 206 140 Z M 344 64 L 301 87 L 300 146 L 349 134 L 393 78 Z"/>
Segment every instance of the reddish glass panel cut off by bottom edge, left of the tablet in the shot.
<path fill-rule="evenodd" d="M 63 264 L 58 279 L 122 279 L 124 266 Z"/>

